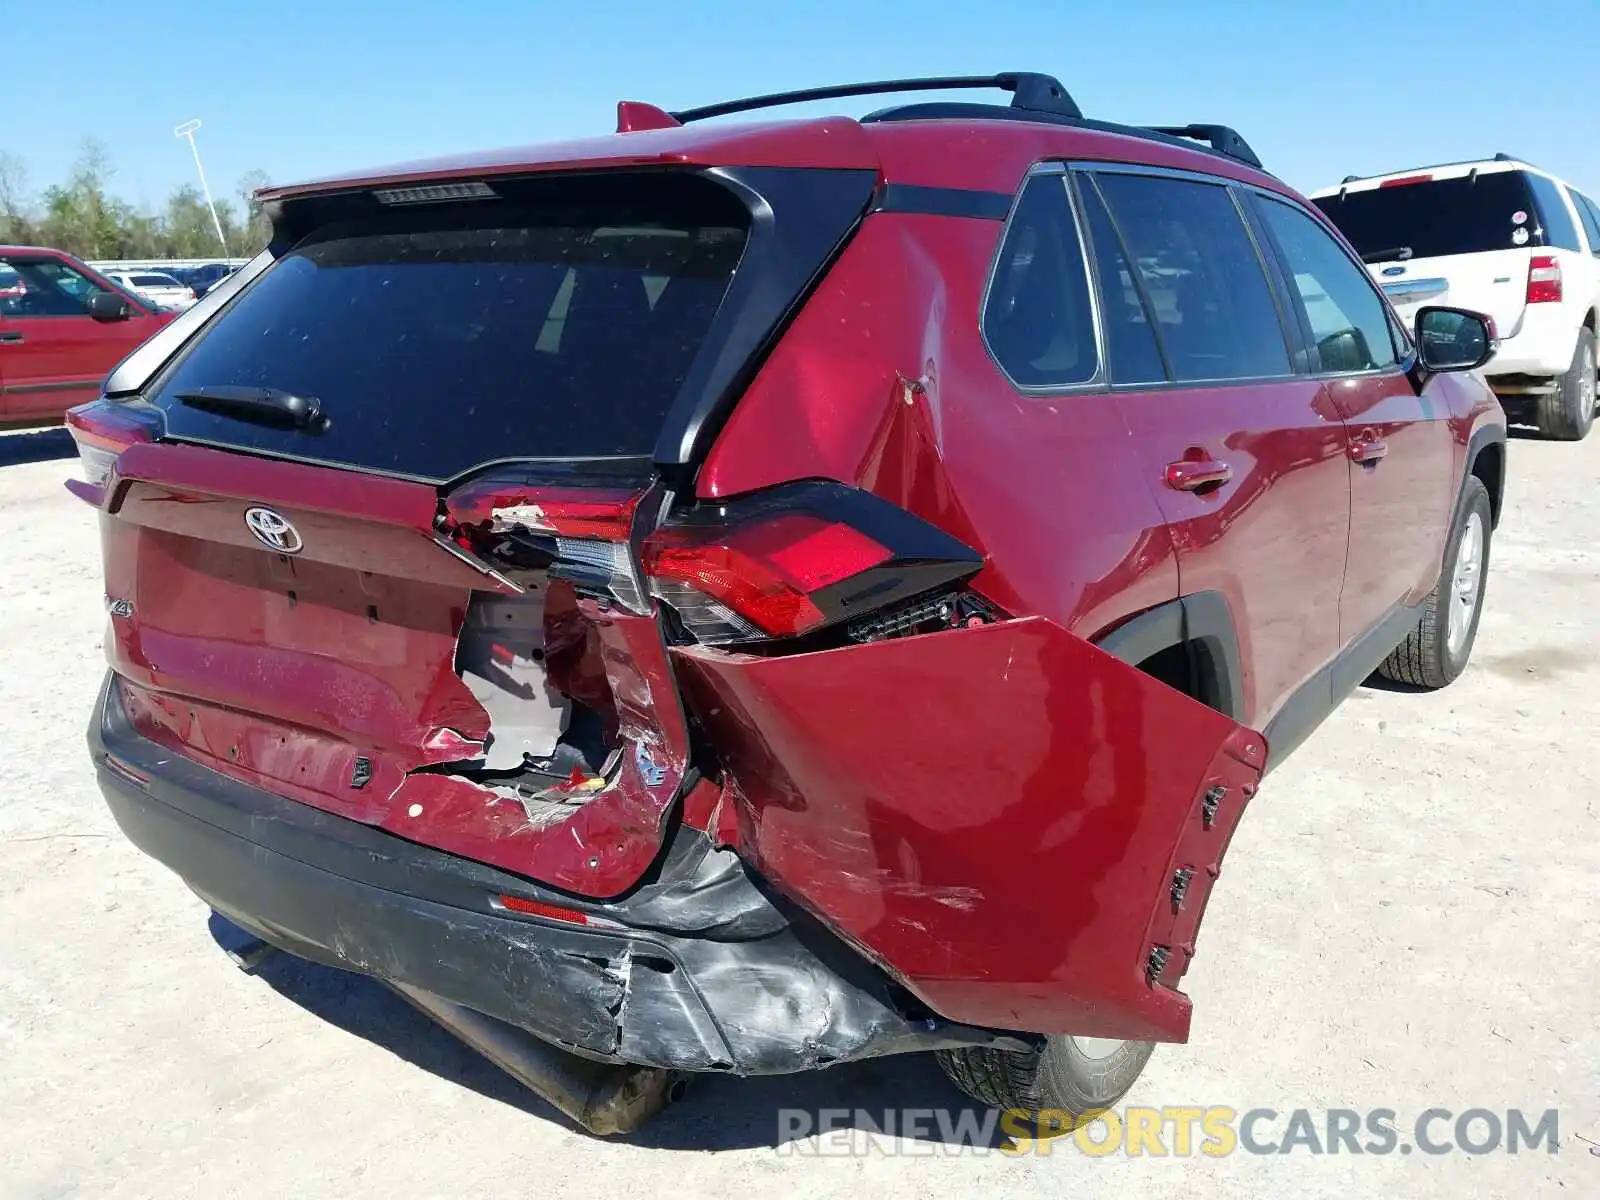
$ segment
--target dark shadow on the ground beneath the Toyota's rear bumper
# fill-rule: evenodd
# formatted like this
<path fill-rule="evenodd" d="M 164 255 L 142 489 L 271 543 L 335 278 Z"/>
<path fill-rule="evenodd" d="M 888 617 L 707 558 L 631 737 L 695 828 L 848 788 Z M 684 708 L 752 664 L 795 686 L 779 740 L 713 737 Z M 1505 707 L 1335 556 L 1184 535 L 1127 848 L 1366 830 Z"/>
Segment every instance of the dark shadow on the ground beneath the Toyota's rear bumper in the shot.
<path fill-rule="evenodd" d="M 219 946 L 227 947 L 237 938 L 237 930 L 224 918 L 213 917 L 211 934 Z M 306 1011 L 422 1070 L 520 1109 L 530 1118 L 547 1120 L 587 1136 L 374 979 L 283 952 L 259 962 L 253 976 Z M 786 1109 L 795 1115 L 786 1120 Z M 968 1146 L 1000 1146 L 1005 1141 L 998 1122 L 987 1109 L 962 1096 L 944 1078 L 931 1054 L 902 1054 L 802 1075 L 696 1075 L 682 1101 L 640 1131 L 618 1141 L 666 1150 L 776 1147 L 810 1136 L 814 1131 L 810 1123 L 824 1120 L 821 1112 L 827 1109 L 840 1110 L 827 1118 L 829 1128 L 835 1130 L 864 1128 L 877 1133 L 874 1122 L 882 1123 L 886 1110 L 923 1109 L 933 1110 L 933 1115 L 925 1120 L 922 1141 L 955 1141 L 963 1136 L 963 1130 L 970 1131 L 965 1133 Z M 859 1114 L 866 1114 L 864 1122 L 858 1122 Z M 987 1131 L 989 1138 L 976 1136 L 981 1131 Z"/>

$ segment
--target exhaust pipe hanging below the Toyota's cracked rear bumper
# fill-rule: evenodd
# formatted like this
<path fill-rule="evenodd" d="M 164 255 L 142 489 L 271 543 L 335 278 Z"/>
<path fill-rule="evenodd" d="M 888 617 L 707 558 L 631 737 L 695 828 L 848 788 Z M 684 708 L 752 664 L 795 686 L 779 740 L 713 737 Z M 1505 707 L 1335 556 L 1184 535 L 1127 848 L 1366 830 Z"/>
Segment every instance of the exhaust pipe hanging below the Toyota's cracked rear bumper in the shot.
<path fill-rule="evenodd" d="M 600 1138 L 632 1133 L 683 1091 L 683 1082 L 670 1070 L 595 1062 L 432 992 L 384 982 L 413 1008 Z"/>

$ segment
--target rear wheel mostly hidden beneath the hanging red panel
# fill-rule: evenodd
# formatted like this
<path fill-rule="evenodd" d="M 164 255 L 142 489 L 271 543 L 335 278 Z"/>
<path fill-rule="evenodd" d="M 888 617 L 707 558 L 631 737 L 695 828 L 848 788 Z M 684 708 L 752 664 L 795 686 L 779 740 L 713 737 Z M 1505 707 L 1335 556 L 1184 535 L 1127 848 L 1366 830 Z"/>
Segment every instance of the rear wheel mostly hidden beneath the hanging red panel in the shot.
<path fill-rule="evenodd" d="M 1056 1035 L 1043 1050 L 968 1046 L 934 1054 L 950 1082 L 974 1101 L 1022 1112 L 1035 1125 L 1043 1114 L 1046 1125 L 1066 1126 L 1066 1118 L 1077 1120 L 1122 1099 L 1154 1050 L 1154 1042 L 1123 1042 L 1094 1058 L 1070 1037 Z"/>

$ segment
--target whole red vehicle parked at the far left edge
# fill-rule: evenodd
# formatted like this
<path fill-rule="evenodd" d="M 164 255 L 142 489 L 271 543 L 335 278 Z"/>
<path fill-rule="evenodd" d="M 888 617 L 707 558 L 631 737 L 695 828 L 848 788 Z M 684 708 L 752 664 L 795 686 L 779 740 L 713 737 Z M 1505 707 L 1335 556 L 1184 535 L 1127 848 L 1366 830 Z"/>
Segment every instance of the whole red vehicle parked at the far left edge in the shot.
<path fill-rule="evenodd" d="M 59 250 L 0 246 L 0 429 L 61 421 L 171 318 Z"/>

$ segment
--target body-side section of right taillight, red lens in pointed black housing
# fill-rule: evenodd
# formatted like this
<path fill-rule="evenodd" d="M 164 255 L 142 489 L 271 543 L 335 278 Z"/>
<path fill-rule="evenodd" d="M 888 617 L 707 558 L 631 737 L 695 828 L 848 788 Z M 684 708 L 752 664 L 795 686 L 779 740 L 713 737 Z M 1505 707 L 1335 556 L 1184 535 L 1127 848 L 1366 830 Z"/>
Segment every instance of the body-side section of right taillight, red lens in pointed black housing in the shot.
<path fill-rule="evenodd" d="M 982 555 L 866 491 L 798 483 L 690 509 L 645 539 L 645 579 L 704 645 L 811 634 L 982 566 Z"/>

